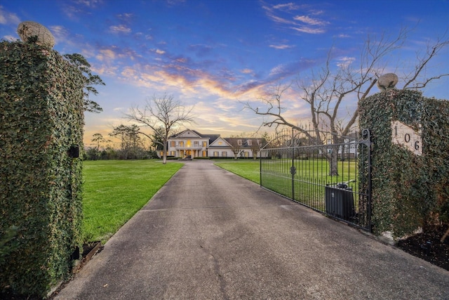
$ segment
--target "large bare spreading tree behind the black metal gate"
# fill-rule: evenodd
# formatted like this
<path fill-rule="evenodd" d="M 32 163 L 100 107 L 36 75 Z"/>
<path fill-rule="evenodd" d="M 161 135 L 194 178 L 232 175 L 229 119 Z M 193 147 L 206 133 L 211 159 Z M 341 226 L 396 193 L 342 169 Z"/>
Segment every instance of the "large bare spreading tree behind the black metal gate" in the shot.
<path fill-rule="evenodd" d="M 284 117 L 285 107 L 282 105 L 282 96 L 291 86 L 277 86 L 272 96 L 260 98 L 264 104 L 264 109 L 260 110 L 250 103 L 246 103 L 246 108 L 252 110 L 257 115 L 271 117 L 264 122 L 263 126 L 288 126 L 303 133 L 310 141 L 316 145 L 328 143 L 328 138 L 323 135 L 323 128 L 330 132 L 332 144 L 342 143 L 344 136 L 347 136 L 353 128 L 358 118 L 358 107 L 352 112 L 348 112 L 347 120 L 342 118 L 344 100 L 356 98 L 358 101 L 370 95 L 377 78 L 384 71 L 386 56 L 392 51 L 401 48 L 407 39 L 409 31 L 402 29 L 394 39 L 387 39 L 384 35 L 379 39 L 369 37 L 363 46 L 360 56 L 360 63 L 354 67 L 352 63 L 337 65 L 336 70 L 331 67 L 331 52 L 328 53 L 326 63 L 318 72 L 311 73 L 311 80 L 296 81 L 300 89 L 300 100 L 307 103 L 310 111 L 312 130 L 307 130 L 302 126 L 291 122 Z M 403 89 L 422 89 L 429 81 L 448 76 L 440 74 L 438 76 L 424 79 L 419 82 L 422 72 L 426 69 L 429 61 L 435 58 L 442 48 L 449 44 L 448 40 L 438 39 L 435 44 L 428 46 L 427 53 L 417 59 L 415 70 L 406 74 L 403 78 L 406 84 Z M 338 148 L 326 152 L 326 158 L 330 162 L 330 175 L 337 175 L 337 154 Z"/>

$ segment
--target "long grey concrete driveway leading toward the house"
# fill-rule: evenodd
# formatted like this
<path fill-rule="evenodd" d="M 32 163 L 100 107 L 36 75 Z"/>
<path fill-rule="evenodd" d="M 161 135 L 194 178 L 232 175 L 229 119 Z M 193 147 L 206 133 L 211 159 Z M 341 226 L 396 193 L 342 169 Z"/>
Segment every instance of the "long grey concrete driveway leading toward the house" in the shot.
<path fill-rule="evenodd" d="M 55 299 L 449 299 L 449 272 L 199 160 Z"/>

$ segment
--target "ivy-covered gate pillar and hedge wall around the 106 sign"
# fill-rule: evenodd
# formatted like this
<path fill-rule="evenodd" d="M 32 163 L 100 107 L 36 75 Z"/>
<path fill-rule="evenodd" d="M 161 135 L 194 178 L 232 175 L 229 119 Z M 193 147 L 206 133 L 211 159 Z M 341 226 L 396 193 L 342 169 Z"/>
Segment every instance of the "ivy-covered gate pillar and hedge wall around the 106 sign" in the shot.
<path fill-rule="evenodd" d="M 394 237 L 449 221 L 449 103 L 389 89 L 362 100 L 360 128 L 371 131 L 373 230 Z M 392 142 L 391 122 L 422 131 L 422 155 Z"/>

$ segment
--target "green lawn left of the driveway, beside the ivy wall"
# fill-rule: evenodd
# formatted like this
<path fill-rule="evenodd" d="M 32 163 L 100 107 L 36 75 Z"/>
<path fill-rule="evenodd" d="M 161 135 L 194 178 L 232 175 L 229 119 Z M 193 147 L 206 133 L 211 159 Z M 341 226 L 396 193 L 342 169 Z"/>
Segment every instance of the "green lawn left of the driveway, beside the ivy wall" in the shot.
<path fill-rule="evenodd" d="M 105 242 L 182 167 L 158 160 L 83 162 L 83 240 Z"/>

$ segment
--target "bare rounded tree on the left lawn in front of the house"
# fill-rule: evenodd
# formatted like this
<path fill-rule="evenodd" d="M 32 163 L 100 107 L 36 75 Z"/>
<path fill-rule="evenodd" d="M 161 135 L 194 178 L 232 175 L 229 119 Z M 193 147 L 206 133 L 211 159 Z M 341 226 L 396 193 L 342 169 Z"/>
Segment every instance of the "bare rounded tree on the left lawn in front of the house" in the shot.
<path fill-rule="evenodd" d="M 151 143 L 162 145 L 163 164 L 166 164 L 168 137 L 175 133 L 177 126 L 194 123 L 192 109 L 193 107 L 187 109 L 179 101 L 173 100 L 173 96 L 164 95 L 159 98 L 153 96 L 147 100 L 143 109 L 131 107 L 126 117 L 152 129 L 152 134 L 140 133 L 147 136 Z"/>

